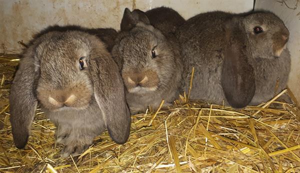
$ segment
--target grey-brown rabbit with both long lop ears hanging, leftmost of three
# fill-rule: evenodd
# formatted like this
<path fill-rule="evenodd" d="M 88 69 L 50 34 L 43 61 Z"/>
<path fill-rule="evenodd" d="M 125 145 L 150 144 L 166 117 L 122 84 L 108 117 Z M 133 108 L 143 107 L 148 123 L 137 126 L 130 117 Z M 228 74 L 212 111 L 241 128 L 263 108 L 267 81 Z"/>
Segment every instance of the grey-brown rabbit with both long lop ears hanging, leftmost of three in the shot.
<path fill-rule="evenodd" d="M 118 67 L 102 41 L 83 31 L 51 31 L 31 41 L 9 101 L 19 149 L 27 143 L 38 103 L 57 127 L 61 157 L 80 154 L 106 128 L 117 144 L 129 136 L 130 112 Z"/>

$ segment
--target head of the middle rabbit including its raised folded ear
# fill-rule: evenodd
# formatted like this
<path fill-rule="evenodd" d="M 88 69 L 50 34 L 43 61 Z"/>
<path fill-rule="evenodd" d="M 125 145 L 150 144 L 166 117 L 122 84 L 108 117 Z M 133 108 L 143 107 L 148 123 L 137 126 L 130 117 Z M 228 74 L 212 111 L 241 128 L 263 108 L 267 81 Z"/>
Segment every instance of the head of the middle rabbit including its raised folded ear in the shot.
<path fill-rule="evenodd" d="M 160 30 L 149 25 L 140 10 L 131 13 L 126 8 L 121 28 L 123 32 L 112 54 L 121 61 L 119 66 L 127 91 L 143 94 L 165 90 L 180 71 L 179 51 L 174 51 Z"/>

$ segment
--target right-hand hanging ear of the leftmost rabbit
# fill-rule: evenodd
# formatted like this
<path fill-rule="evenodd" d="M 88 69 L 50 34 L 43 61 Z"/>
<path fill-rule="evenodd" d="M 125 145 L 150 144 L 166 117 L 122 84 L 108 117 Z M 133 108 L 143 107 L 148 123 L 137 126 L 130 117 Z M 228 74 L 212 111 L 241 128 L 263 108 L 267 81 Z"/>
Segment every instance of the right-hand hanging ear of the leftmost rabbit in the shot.
<path fill-rule="evenodd" d="M 130 113 L 117 65 L 110 54 L 101 50 L 87 61 L 94 86 L 94 96 L 111 139 L 124 144 L 130 132 Z"/>

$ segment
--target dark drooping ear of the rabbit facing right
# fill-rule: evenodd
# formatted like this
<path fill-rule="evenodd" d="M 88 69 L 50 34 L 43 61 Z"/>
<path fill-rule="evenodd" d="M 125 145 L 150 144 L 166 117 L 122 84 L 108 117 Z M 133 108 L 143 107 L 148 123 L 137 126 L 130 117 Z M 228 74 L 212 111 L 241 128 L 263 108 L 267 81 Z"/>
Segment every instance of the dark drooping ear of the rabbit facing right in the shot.
<path fill-rule="evenodd" d="M 225 26 L 227 45 L 221 72 L 225 98 L 233 108 L 247 106 L 255 93 L 255 76 L 246 52 L 245 35 L 229 21 Z"/>

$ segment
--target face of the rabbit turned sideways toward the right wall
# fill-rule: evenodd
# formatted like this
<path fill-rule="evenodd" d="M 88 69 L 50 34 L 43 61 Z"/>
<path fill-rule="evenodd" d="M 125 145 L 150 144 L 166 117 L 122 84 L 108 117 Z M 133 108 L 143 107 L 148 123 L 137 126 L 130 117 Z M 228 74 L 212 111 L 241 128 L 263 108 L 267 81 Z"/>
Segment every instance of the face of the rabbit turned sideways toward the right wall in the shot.
<path fill-rule="evenodd" d="M 257 12 L 245 16 L 241 21 L 250 43 L 247 48 L 253 57 L 280 56 L 289 37 L 282 20 L 272 13 Z"/>

